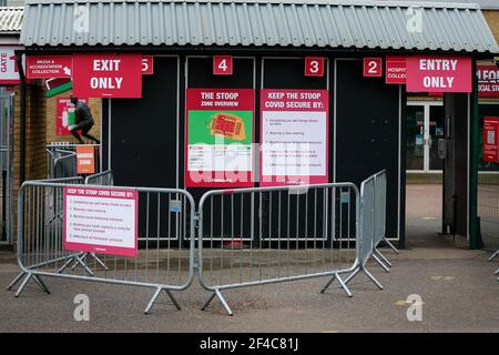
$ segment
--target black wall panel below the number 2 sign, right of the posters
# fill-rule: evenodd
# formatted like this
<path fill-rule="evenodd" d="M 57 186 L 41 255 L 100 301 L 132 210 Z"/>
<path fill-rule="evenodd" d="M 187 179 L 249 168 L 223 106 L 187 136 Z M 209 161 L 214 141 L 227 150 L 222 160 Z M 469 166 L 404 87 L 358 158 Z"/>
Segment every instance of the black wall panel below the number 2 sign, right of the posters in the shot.
<path fill-rule="evenodd" d="M 397 236 L 398 224 L 398 102 L 399 87 L 385 84 L 384 78 L 364 78 L 361 60 L 337 62 L 336 181 L 359 186 L 386 169 L 388 237 Z"/>

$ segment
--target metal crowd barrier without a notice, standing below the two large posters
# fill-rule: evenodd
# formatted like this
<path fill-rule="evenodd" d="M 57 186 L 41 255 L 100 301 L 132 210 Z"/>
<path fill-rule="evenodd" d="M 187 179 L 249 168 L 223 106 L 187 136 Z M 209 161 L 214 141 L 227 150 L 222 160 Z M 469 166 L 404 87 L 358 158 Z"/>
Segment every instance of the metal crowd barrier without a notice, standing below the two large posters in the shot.
<path fill-rule="evenodd" d="M 218 190 L 198 206 L 198 274 L 212 292 L 310 277 L 338 280 L 358 265 L 359 194 L 353 183 Z"/>

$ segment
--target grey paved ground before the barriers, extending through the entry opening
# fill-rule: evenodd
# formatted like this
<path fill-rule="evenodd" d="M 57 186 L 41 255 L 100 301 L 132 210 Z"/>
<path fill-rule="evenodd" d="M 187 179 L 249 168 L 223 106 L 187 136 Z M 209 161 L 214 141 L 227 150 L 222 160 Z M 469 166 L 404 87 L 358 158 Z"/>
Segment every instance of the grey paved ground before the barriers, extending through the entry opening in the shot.
<path fill-rule="evenodd" d="M 318 291 L 326 280 L 309 280 L 225 292 L 235 315 L 217 303 L 198 310 L 208 293 L 196 284 L 177 294 L 183 311 L 166 296 L 149 315 L 143 308 L 149 290 L 47 280 L 52 294 L 30 285 L 20 298 L 0 290 L 0 332 L 499 332 L 499 283 L 493 272 L 499 260 L 469 251 L 440 229 L 439 185 L 408 186 L 408 248 L 389 274 L 377 265 L 371 272 L 385 285 L 377 291 L 359 276 L 352 283 L 354 297 L 337 288 Z M 459 242 L 459 241 L 458 241 Z M 0 257 L 0 285 L 16 275 L 10 255 Z M 90 322 L 75 322 L 73 297 L 90 297 Z M 407 296 L 422 298 L 422 321 L 409 322 Z"/>

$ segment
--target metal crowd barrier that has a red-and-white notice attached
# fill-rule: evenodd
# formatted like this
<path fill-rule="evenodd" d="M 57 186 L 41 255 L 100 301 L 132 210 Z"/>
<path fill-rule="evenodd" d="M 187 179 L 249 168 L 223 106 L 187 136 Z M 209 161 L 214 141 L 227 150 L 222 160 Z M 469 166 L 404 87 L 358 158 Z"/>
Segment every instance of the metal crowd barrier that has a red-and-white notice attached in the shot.
<path fill-rule="evenodd" d="M 22 184 L 18 199 L 18 264 L 22 273 L 9 285 L 9 290 L 22 277 L 16 296 L 21 294 L 30 280 L 49 293 L 42 277 L 151 287 L 155 293 L 145 313 L 162 291 L 180 310 L 171 291 L 187 288 L 194 278 L 193 197 L 186 191 L 176 189 L 106 187 L 139 193 L 139 256 L 129 258 L 96 254 L 93 262 L 89 263 L 85 260 L 89 254 L 64 250 L 64 223 L 61 216 L 64 214 L 65 186 L 71 185 L 60 181 L 28 181 Z M 85 187 L 92 186 L 102 187 Z M 48 196 L 55 196 L 52 209 L 47 207 L 48 200 L 52 201 Z M 187 247 L 183 247 L 184 243 Z M 75 264 L 70 268 L 71 262 Z"/>

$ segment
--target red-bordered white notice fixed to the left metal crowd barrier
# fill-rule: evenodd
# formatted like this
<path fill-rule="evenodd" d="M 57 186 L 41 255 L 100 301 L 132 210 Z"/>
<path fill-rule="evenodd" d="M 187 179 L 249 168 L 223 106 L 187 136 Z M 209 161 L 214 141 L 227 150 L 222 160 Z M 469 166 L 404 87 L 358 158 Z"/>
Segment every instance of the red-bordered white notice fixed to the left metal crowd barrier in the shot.
<path fill-rule="evenodd" d="M 138 256 L 138 192 L 64 187 L 64 250 Z"/>

